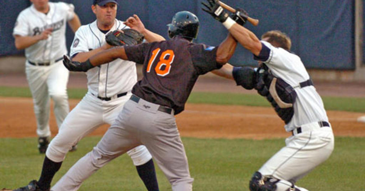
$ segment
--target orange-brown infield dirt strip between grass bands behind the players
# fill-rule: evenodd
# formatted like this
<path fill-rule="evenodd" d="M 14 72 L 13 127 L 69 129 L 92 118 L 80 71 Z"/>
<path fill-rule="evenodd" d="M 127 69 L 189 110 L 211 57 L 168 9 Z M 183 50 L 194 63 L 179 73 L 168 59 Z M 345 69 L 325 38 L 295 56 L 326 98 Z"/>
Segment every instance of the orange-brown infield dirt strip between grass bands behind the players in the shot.
<path fill-rule="evenodd" d="M 73 108 L 79 100 L 70 100 Z M 35 137 L 36 122 L 31 98 L 0 97 L 0 137 Z M 356 122 L 360 113 L 328 111 L 336 136 L 365 136 L 365 123 Z M 247 106 L 218 106 L 187 104 L 186 110 L 176 116 L 181 136 L 198 138 L 284 138 L 283 122 L 272 108 Z M 52 135 L 57 125 L 51 112 Z M 108 126 L 98 128 L 91 135 L 102 135 Z"/>

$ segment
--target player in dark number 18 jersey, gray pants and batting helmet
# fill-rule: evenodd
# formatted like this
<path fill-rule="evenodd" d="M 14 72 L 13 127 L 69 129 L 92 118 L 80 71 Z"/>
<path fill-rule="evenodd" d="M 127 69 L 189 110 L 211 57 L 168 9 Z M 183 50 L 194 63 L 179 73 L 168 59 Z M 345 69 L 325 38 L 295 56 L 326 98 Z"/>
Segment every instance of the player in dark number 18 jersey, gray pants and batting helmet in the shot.
<path fill-rule="evenodd" d="M 228 35 L 218 47 L 192 43 L 199 20 L 188 11 L 176 13 L 168 26 L 171 39 L 167 41 L 112 48 L 83 63 L 65 58 L 64 64 L 73 71 L 117 58 L 131 60 L 143 64 L 143 79 L 134 85 L 130 100 L 97 146 L 74 164 L 52 190 L 76 190 L 97 169 L 141 144 L 150 151 L 173 191 L 192 190 L 193 178 L 174 115 L 184 110 L 197 77 L 227 63 L 237 42 Z M 77 174 L 79 169 L 88 169 L 89 174 L 81 176 Z"/>

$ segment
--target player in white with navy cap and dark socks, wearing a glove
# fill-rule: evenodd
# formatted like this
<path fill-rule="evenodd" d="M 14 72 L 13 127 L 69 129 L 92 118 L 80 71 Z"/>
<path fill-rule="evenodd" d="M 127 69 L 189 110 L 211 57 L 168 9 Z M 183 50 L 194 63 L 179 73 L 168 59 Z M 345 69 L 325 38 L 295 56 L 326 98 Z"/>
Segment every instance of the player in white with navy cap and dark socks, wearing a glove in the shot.
<path fill-rule="evenodd" d="M 91 8 L 96 20 L 77 30 L 70 50 L 73 60 L 85 61 L 90 56 L 111 48 L 111 45 L 105 43 L 105 34 L 116 29 L 128 28 L 122 21 L 115 19 L 118 8 L 116 1 L 94 0 Z M 164 40 L 162 36 L 145 29 L 136 15 L 128 18 L 126 24 L 142 32 L 147 40 Z M 135 63 L 121 59 L 90 69 L 86 74 L 88 92 L 67 115 L 57 136 L 52 139 L 43 162 L 41 177 L 17 191 L 49 190 L 53 176 L 61 167 L 69 149 L 101 124 L 112 124 L 124 103 L 129 100 L 131 89 L 137 82 Z M 157 191 L 154 164 L 147 148 L 145 146 L 131 148 L 127 154 L 131 156 L 147 190 Z M 80 173 L 87 172 L 87 169 L 80 171 Z"/>

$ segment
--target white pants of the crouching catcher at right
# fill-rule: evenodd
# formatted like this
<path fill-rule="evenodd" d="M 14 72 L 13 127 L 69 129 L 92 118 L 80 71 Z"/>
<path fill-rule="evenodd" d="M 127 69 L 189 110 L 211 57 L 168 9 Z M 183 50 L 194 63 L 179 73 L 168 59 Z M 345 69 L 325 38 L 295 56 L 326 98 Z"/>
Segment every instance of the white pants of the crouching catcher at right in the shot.
<path fill-rule="evenodd" d="M 334 135 L 331 127 L 322 127 L 290 136 L 285 143 L 286 146 L 258 171 L 265 176 L 295 183 L 330 157 Z M 279 187 L 277 191 L 281 191 Z"/>

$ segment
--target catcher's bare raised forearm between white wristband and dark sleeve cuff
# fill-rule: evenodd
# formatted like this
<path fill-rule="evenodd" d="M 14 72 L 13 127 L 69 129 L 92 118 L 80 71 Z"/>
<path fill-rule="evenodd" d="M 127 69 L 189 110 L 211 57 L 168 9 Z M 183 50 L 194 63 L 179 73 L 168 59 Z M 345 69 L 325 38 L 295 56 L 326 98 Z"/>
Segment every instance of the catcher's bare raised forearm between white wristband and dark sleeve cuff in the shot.
<path fill-rule="evenodd" d="M 237 23 L 232 25 L 228 31 L 238 41 L 239 44 L 252 52 L 254 55 L 258 56 L 262 46 L 260 40 L 253 32 Z"/>

